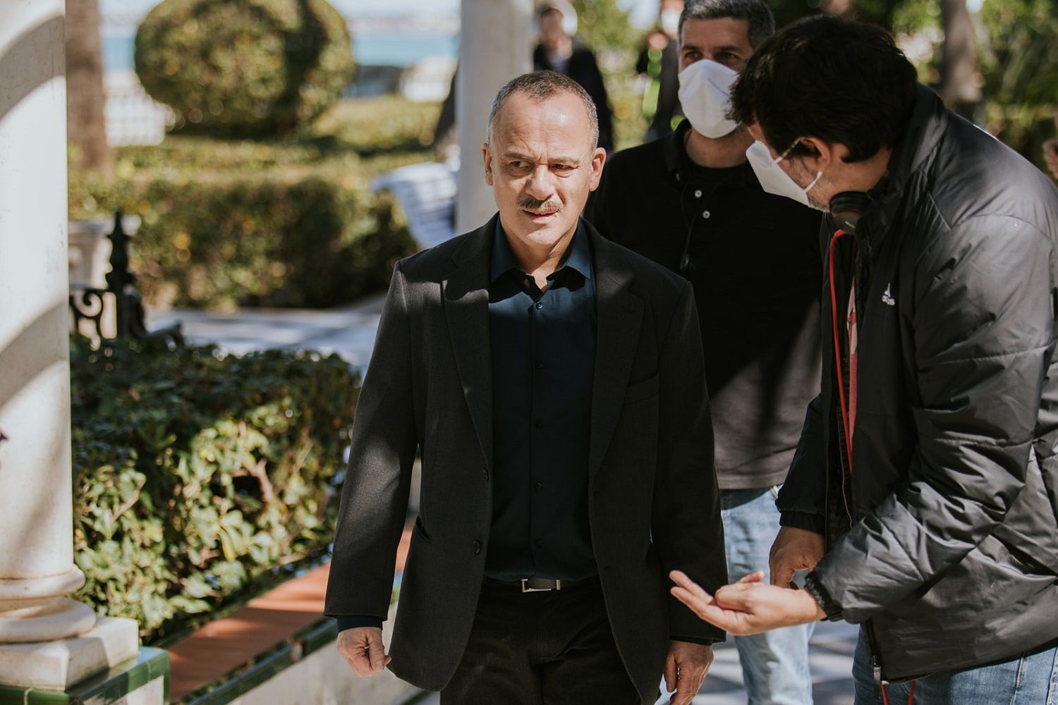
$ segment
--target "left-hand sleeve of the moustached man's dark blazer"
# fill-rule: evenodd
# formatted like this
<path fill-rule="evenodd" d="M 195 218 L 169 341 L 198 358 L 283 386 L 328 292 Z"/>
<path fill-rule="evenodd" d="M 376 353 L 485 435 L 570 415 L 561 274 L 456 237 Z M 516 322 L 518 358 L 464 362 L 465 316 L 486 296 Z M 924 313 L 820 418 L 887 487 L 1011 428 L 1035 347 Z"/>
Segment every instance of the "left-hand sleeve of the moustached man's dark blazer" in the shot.
<path fill-rule="evenodd" d="M 417 448 L 404 277 L 394 271 L 352 425 L 324 614 L 385 618 Z"/>

